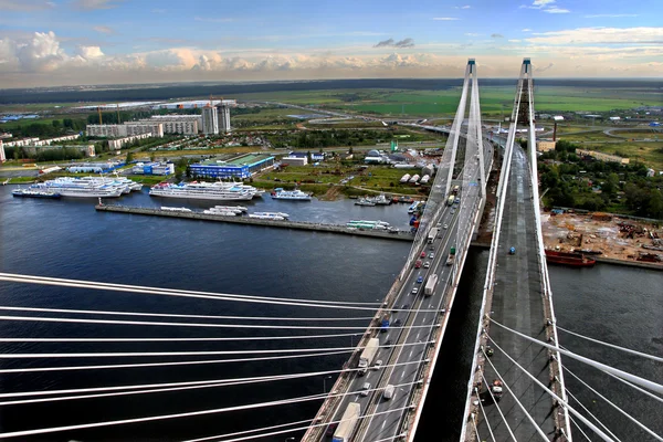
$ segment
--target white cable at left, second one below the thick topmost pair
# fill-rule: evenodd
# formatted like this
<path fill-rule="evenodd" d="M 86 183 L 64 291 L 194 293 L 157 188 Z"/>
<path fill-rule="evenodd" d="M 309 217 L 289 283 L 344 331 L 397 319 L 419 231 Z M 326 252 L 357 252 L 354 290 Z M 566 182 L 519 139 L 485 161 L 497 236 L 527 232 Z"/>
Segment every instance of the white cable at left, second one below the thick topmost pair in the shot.
<path fill-rule="evenodd" d="M 400 312 L 418 312 L 413 309 L 403 309 Z M 419 311 L 419 312 L 435 312 L 439 311 Z M 115 325 L 146 325 L 146 326 L 167 326 L 167 327 L 211 327 L 211 328 L 251 328 L 251 329 L 283 329 L 284 325 L 256 325 L 256 324 L 213 324 L 213 323 L 161 323 L 156 320 L 120 320 L 120 319 L 85 319 L 85 318 L 60 318 L 46 316 L 0 316 L 0 320 L 25 320 L 38 323 L 74 323 L 74 324 L 115 324 Z M 430 325 L 413 325 L 410 328 L 427 328 Z M 317 326 L 317 325 L 288 325 L 288 329 L 298 330 L 378 330 L 380 326 L 364 327 L 364 326 Z M 407 327 L 389 327 L 393 329 Z"/>

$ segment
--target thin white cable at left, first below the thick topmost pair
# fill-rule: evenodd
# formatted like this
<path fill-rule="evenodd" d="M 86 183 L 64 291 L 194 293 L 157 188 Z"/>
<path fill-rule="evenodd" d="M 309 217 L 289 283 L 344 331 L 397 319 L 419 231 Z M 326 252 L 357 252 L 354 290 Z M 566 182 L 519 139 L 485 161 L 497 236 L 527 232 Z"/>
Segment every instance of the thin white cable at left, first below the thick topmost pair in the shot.
<path fill-rule="evenodd" d="M 244 320 L 370 320 L 372 316 L 365 317 L 283 317 L 283 316 L 214 316 L 214 315 L 183 315 L 173 313 L 145 313 L 145 312 L 117 312 L 117 311 L 82 311 L 69 308 L 38 308 L 38 307 L 10 307 L 0 306 L 0 311 L 19 312 L 51 312 L 51 313 L 75 313 L 83 315 L 116 315 L 116 316 L 151 316 L 151 317 L 178 317 L 178 318 L 198 318 L 198 319 L 244 319 Z"/>

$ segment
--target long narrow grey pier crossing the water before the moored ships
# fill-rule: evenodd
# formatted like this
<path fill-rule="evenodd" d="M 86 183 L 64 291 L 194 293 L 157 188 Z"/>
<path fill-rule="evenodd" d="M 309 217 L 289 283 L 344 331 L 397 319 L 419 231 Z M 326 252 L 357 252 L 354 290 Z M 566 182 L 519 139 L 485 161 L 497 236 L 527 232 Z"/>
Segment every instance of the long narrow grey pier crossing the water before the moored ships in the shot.
<path fill-rule="evenodd" d="M 178 212 L 172 210 L 161 210 L 151 208 L 139 208 L 128 206 L 107 206 L 96 204 L 94 207 L 101 212 L 115 212 L 115 213 L 128 213 L 128 214 L 144 214 L 152 217 L 167 217 L 167 218 L 180 218 L 189 220 L 201 220 L 201 221 L 215 221 L 215 222 L 230 222 L 235 224 L 249 224 L 249 225 L 262 225 L 267 228 L 281 228 L 281 229 L 297 229 L 308 230 L 315 232 L 329 232 L 329 233 L 344 233 L 355 236 L 368 236 L 377 238 L 381 240 L 399 240 L 399 241 L 412 241 L 414 236 L 410 232 L 398 231 L 388 232 L 379 230 L 360 230 L 350 229 L 339 224 L 320 224 L 315 222 L 304 221 L 280 221 L 280 220 L 261 220 L 249 217 L 222 217 L 215 214 L 207 214 L 202 212 Z"/>

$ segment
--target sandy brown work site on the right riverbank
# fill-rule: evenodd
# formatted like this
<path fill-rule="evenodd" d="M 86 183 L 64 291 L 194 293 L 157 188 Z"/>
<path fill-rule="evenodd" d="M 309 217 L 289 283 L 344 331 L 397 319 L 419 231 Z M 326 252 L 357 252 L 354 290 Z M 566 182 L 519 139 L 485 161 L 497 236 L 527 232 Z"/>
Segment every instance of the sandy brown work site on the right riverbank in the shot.
<path fill-rule="evenodd" d="M 663 270 L 660 223 L 609 213 L 541 213 L 546 249 L 580 252 L 597 261 Z"/>

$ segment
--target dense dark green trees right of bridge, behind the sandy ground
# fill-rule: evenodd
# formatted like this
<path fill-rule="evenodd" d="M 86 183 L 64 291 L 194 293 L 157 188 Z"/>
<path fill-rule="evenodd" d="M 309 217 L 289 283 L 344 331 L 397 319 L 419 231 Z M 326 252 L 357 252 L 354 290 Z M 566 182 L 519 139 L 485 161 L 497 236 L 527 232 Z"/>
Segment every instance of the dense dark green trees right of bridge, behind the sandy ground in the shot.
<path fill-rule="evenodd" d="M 620 165 L 582 159 L 575 154 L 580 146 L 558 141 L 539 161 L 541 192 L 548 206 L 590 211 L 623 211 L 644 218 L 663 219 L 663 177 L 648 177 L 646 166 Z M 547 164 L 554 159 L 560 164 Z M 600 189 L 600 192 L 596 192 Z"/>

